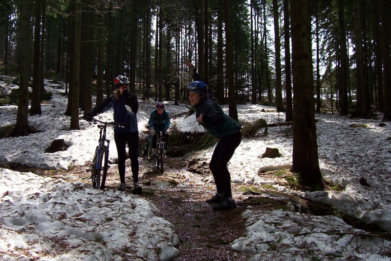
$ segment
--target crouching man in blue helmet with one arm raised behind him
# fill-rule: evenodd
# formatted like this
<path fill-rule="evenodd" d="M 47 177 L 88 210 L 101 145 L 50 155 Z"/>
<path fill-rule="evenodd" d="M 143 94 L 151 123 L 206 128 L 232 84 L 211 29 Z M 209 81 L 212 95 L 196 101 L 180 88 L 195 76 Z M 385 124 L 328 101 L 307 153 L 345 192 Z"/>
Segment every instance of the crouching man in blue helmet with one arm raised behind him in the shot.
<path fill-rule="evenodd" d="M 206 202 L 215 203 L 214 210 L 236 208 L 235 200 L 232 198 L 231 174 L 227 164 L 241 142 L 241 126 L 207 96 L 207 85 L 204 79 L 195 72 L 194 66 L 189 62 L 186 65 L 193 73 L 194 81 L 188 89 L 190 103 L 195 108 L 196 120 L 207 132 L 219 139 L 209 163 L 217 192 Z"/>

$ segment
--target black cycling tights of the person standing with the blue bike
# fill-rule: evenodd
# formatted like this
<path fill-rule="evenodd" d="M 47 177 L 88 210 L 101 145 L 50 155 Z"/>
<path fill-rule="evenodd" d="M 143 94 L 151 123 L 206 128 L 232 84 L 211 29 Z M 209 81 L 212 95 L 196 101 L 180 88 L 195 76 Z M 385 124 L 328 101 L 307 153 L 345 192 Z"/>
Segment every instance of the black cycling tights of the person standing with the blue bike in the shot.
<path fill-rule="evenodd" d="M 114 141 L 118 152 L 118 172 L 121 183 L 125 183 L 126 144 L 128 143 L 129 158 L 133 182 L 138 182 L 138 131 L 114 132 Z"/>

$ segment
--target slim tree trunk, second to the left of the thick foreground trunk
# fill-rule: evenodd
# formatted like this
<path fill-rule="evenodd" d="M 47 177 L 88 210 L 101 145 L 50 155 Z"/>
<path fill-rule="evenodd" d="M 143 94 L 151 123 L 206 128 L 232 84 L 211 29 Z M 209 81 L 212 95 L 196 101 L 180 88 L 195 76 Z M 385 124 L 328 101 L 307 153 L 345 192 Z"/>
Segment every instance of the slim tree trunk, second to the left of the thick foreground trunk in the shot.
<path fill-rule="evenodd" d="M 282 104 L 282 77 L 281 77 L 281 41 L 280 41 L 280 24 L 278 1 L 273 0 L 273 18 L 274 18 L 274 45 L 276 47 L 276 107 L 277 112 L 283 112 Z"/>

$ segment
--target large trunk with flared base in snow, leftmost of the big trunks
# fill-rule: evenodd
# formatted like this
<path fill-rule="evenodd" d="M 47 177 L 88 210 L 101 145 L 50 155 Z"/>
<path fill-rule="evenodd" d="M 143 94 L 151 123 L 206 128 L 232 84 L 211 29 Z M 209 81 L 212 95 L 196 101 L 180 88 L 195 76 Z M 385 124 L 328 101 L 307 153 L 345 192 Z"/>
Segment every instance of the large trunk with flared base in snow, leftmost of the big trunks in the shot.
<path fill-rule="evenodd" d="M 22 1 L 20 22 L 20 80 L 18 112 L 16 115 L 13 136 L 26 136 L 28 134 L 28 81 L 30 79 L 30 21 L 33 2 Z"/>

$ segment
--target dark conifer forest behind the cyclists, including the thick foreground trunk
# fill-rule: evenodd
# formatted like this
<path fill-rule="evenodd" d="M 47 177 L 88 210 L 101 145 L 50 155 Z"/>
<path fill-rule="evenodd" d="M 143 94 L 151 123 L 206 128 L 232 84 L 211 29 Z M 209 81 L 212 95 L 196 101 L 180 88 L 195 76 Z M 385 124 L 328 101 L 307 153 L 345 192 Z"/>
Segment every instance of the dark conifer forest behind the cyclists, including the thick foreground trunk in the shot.
<path fill-rule="evenodd" d="M 64 77 L 70 129 L 130 78 L 142 99 L 187 99 L 195 64 L 214 98 L 276 106 L 293 121 L 292 170 L 320 184 L 315 112 L 391 119 L 388 0 L 2 0 L 0 57 L 19 74 L 13 135 L 42 114 L 43 79 Z M 29 94 L 29 87 L 32 92 Z M 5 94 L 6 95 L 6 94 Z M 29 100 L 30 107 L 29 105 Z M 331 131 L 331 130 L 330 130 Z"/>

